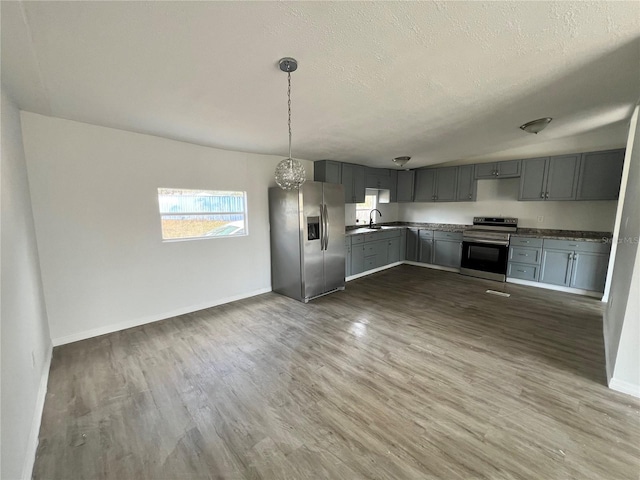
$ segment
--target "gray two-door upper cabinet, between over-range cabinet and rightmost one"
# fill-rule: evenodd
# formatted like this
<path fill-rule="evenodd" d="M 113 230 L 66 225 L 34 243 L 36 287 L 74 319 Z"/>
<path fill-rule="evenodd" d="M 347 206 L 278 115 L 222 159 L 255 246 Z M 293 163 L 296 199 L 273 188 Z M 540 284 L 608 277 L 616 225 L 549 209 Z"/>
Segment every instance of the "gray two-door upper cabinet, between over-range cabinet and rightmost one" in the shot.
<path fill-rule="evenodd" d="M 575 200 L 579 155 L 522 161 L 518 200 Z"/>

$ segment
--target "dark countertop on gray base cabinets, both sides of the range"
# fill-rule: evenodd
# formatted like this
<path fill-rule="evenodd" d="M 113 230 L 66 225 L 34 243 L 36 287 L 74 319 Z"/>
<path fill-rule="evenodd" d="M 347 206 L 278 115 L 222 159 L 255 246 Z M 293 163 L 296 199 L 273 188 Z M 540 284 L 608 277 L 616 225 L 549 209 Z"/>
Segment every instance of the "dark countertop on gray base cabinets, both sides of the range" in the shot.
<path fill-rule="evenodd" d="M 472 225 L 456 223 L 415 223 L 415 222 L 391 222 L 378 224 L 382 229 L 370 229 L 365 226 L 349 225 L 346 227 L 346 235 L 358 235 L 363 233 L 379 232 L 380 230 L 393 230 L 399 228 L 422 228 L 424 230 L 437 230 L 441 232 L 462 232 Z M 520 237 L 548 238 L 556 240 L 574 240 L 583 242 L 607 243 L 611 241 L 611 232 L 594 232 L 586 230 L 558 230 L 543 228 L 518 228 L 514 234 Z"/>

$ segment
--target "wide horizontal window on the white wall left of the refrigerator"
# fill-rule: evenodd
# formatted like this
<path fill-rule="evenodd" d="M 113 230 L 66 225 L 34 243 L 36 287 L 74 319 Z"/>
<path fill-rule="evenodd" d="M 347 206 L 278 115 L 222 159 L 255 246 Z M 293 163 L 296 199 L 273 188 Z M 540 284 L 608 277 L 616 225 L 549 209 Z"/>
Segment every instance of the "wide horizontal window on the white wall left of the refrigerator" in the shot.
<path fill-rule="evenodd" d="M 247 235 L 247 193 L 158 188 L 162 239 Z"/>

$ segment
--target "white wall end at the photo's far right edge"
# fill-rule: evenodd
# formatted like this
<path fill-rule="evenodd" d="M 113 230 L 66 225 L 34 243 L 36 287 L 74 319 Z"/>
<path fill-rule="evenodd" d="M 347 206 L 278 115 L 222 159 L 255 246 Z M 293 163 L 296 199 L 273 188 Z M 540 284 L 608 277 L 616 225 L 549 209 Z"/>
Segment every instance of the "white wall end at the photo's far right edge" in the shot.
<path fill-rule="evenodd" d="M 615 258 L 604 315 L 609 385 L 640 397 L 640 122 L 636 107 L 629 129 L 623 187 L 616 222 Z"/>

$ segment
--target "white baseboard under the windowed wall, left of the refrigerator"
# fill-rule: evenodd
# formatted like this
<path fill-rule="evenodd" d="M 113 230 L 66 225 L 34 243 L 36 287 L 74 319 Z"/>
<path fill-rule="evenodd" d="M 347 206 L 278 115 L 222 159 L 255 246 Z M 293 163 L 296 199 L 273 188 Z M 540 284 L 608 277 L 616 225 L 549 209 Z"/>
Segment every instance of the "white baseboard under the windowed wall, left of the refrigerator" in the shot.
<path fill-rule="evenodd" d="M 271 287 L 261 288 L 248 293 L 242 293 L 240 295 L 233 295 L 230 297 L 220 298 L 213 302 L 201 303 L 198 305 L 191 305 L 189 307 L 179 308 L 170 312 L 158 313 L 155 315 L 149 315 L 146 317 L 136 318 L 133 320 L 126 320 L 124 322 L 114 323 L 112 325 L 106 325 L 100 328 L 94 328 L 91 330 L 85 330 L 83 332 L 73 333 L 71 335 L 65 335 L 63 337 L 56 337 L 53 341 L 53 346 L 58 347 L 60 345 L 66 345 L 67 343 L 79 342 L 80 340 L 86 340 L 87 338 L 99 337 L 107 333 L 119 332 L 120 330 L 126 330 L 127 328 L 139 327 L 140 325 L 146 325 L 147 323 L 159 322 L 160 320 L 166 320 L 167 318 L 177 317 L 178 315 L 184 315 L 186 313 L 197 312 L 198 310 L 204 310 L 205 308 L 216 307 L 225 303 L 235 302 L 237 300 L 243 300 L 249 297 L 255 297 L 256 295 L 262 295 L 271 291 Z"/>

